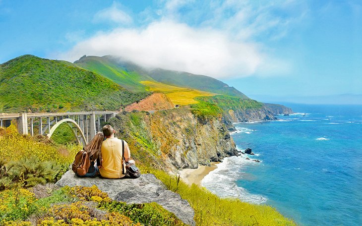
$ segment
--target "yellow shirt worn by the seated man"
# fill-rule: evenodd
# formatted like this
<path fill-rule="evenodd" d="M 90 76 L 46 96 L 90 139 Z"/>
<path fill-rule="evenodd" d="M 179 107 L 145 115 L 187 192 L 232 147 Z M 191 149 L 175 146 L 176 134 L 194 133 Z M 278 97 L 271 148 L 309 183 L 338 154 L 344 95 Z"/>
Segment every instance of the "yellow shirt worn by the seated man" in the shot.
<path fill-rule="evenodd" d="M 102 167 L 99 169 L 105 178 L 122 178 L 122 167 L 125 166 L 122 160 L 122 141 L 117 137 L 107 138 L 101 147 Z M 124 141 L 124 158 L 130 158 L 131 154 L 127 142 Z"/>

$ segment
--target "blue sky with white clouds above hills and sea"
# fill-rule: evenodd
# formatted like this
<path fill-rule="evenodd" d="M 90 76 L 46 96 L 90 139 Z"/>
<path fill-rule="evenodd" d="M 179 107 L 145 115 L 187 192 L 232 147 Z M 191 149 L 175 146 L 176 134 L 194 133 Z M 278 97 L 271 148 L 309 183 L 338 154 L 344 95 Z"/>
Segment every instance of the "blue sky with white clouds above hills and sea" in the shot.
<path fill-rule="evenodd" d="M 0 0 L 0 62 L 116 55 L 261 100 L 362 95 L 360 0 Z"/>

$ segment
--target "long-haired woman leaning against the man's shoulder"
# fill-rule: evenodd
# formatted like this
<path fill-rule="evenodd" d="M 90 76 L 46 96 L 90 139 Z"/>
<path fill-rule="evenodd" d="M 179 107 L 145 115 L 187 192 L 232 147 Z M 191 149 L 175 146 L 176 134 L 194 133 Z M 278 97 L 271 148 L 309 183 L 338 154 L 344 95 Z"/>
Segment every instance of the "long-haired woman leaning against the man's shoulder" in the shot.
<path fill-rule="evenodd" d="M 94 177 L 99 175 L 99 169 L 98 167 L 100 167 L 102 165 L 102 154 L 101 154 L 101 147 L 102 147 L 102 142 L 104 139 L 104 135 L 102 132 L 98 132 L 94 138 L 83 148 L 89 156 L 89 162 L 90 162 L 90 167 L 88 169 L 88 172 L 84 175 L 84 176 L 80 176 L 80 177 Z M 95 166 L 95 162 L 97 162 L 97 166 Z"/>

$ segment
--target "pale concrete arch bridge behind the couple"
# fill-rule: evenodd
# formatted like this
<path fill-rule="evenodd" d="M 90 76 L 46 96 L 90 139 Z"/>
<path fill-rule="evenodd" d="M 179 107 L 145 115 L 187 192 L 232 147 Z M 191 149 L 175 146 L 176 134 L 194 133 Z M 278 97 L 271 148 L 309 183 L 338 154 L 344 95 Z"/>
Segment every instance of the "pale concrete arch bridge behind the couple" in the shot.
<path fill-rule="evenodd" d="M 101 123 L 116 114 L 117 112 L 0 113 L 0 126 L 8 126 L 15 119 L 20 134 L 51 137 L 60 124 L 66 123 L 77 142 L 86 145 L 101 130 Z"/>

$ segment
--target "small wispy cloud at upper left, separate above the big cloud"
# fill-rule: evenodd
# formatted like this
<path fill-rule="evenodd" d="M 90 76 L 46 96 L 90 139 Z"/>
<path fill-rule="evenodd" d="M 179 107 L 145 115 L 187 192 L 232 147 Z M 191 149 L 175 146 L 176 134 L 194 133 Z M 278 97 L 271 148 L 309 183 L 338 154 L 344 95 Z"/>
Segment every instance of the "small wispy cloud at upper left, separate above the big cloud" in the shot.
<path fill-rule="evenodd" d="M 132 23 L 132 17 L 121 10 L 121 4 L 114 2 L 111 7 L 105 8 L 97 12 L 93 21 L 112 21 L 120 24 Z"/>

